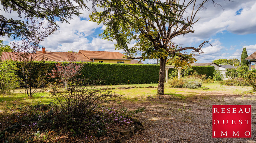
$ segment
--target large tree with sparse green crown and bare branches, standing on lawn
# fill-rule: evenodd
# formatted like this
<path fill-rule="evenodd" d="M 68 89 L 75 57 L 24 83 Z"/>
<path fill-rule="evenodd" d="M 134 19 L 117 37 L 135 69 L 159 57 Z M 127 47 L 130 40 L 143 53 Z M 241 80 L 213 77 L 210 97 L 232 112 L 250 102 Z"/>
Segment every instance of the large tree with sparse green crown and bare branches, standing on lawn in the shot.
<path fill-rule="evenodd" d="M 160 59 L 158 94 L 164 94 L 165 65 L 167 57 L 179 57 L 173 61 L 175 67 L 194 63 L 193 49 L 200 52 L 206 41 L 195 47 L 178 47 L 172 38 L 193 33 L 191 27 L 199 20 L 196 14 L 209 0 L 103 0 L 98 6 L 104 11 L 93 12 L 90 20 L 103 23 L 106 29 L 100 36 L 110 41 L 116 40 L 116 49 L 125 50 L 131 59 Z M 136 40 L 135 46 L 127 45 Z M 136 57 L 141 52 L 141 57 Z"/>

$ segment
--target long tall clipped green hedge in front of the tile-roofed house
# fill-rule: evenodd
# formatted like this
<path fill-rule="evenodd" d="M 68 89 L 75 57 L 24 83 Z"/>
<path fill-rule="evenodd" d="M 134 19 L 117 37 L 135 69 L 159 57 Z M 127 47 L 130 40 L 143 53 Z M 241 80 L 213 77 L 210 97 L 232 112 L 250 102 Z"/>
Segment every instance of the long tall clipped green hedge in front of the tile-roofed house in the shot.
<path fill-rule="evenodd" d="M 32 74 L 47 74 L 56 68 L 57 62 L 34 62 Z M 19 63 L 17 66 L 20 68 Z M 110 64 L 110 63 L 85 63 L 78 78 L 86 78 L 95 81 L 96 84 L 143 84 L 158 83 L 159 65 L 131 65 L 131 64 Z M 18 75 L 22 78 L 22 73 Z M 45 82 L 52 82 L 47 76 Z"/>

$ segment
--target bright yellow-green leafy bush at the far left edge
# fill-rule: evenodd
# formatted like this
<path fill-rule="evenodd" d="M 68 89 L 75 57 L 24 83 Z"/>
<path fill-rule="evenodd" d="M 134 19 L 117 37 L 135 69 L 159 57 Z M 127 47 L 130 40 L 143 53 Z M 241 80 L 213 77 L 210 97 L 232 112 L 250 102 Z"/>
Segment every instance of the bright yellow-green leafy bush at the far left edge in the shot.
<path fill-rule="evenodd" d="M 19 87 L 16 70 L 14 62 L 8 60 L 0 62 L 0 93 L 7 93 Z"/>

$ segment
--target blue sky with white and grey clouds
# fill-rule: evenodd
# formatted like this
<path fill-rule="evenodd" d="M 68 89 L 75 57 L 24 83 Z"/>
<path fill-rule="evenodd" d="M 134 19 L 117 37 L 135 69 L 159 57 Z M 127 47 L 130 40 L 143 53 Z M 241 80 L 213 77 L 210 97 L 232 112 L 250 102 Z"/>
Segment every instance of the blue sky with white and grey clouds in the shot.
<path fill-rule="evenodd" d="M 200 1 L 200 0 L 199 0 Z M 233 2 L 218 0 L 222 5 L 214 7 L 211 0 L 205 5 L 207 9 L 198 13 L 199 21 L 195 23 L 194 33 L 181 35 L 173 38 L 173 42 L 180 46 L 198 47 L 204 40 L 209 41 L 212 46 L 205 45 L 203 54 L 198 55 L 197 62 L 212 62 L 215 59 L 240 60 L 242 48 L 246 47 L 248 55 L 256 51 L 256 2 L 255 0 L 233 0 Z M 87 6 L 91 4 L 88 2 Z M 1 7 L 0 7 L 1 9 Z M 17 14 L 4 13 L 6 17 L 17 18 Z M 79 50 L 99 50 L 99 51 L 119 51 L 115 50 L 115 42 L 110 42 L 98 37 L 104 26 L 97 25 L 89 21 L 91 11 L 82 11 L 80 17 L 68 23 L 60 23 L 59 31 L 47 37 L 41 44 L 46 46 L 46 51 L 79 51 Z M 18 41 L 8 37 L 0 37 L 5 44 Z M 132 46 L 130 44 L 129 46 Z M 146 60 L 143 63 L 156 63 L 156 60 Z"/>

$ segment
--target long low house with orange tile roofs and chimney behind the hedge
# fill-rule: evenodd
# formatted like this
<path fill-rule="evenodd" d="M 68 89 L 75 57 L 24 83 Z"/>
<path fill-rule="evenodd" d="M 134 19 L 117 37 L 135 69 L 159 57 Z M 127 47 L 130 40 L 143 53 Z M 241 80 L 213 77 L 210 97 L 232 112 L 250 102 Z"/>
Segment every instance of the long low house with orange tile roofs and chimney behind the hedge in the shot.
<path fill-rule="evenodd" d="M 17 52 L 2 52 L 1 60 L 11 59 L 20 61 Z M 31 53 L 29 53 L 31 54 Z M 84 51 L 74 52 L 48 52 L 45 48 L 33 54 L 34 61 L 75 61 L 75 62 L 97 62 L 97 63 L 125 63 L 130 64 L 131 59 L 123 58 L 125 55 L 119 52 Z"/>

